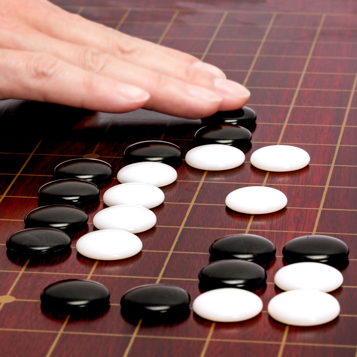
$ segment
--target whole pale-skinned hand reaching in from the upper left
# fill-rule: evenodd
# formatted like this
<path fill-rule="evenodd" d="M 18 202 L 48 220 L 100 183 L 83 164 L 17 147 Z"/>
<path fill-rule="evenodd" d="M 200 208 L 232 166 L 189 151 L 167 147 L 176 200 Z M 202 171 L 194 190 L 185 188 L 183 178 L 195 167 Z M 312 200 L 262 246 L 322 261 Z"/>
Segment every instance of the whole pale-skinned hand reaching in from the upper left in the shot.
<path fill-rule="evenodd" d="M 125 35 L 46 0 L 0 1 L 0 100 L 200 118 L 250 93 L 215 66 Z"/>

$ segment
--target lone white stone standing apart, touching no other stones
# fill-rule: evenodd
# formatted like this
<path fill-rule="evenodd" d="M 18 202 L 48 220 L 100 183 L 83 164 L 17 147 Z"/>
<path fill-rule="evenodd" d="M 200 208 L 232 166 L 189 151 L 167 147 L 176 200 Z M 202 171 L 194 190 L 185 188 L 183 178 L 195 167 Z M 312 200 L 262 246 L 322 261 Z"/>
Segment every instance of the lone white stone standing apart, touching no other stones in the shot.
<path fill-rule="evenodd" d="M 233 211 L 263 214 L 281 210 L 287 198 L 279 190 L 267 186 L 248 186 L 232 191 L 226 197 L 226 205 Z"/>

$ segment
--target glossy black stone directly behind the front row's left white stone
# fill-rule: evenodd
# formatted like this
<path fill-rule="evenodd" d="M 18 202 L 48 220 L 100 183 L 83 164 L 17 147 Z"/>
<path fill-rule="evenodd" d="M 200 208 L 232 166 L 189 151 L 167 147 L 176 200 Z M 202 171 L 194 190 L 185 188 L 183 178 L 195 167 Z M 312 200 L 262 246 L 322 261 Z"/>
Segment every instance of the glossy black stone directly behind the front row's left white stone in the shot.
<path fill-rule="evenodd" d="M 231 287 L 253 291 L 265 285 L 267 274 L 256 263 L 230 259 L 206 265 L 198 278 L 206 289 Z"/>

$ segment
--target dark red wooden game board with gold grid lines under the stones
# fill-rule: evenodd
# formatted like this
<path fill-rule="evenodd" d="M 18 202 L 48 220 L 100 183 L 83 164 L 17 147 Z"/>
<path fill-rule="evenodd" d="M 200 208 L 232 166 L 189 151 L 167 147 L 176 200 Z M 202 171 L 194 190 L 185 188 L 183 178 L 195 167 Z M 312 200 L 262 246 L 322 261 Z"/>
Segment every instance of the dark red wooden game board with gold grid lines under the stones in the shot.
<path fill-rule="evenodd" d="M 121 1 L 57 0 L 66 10 L 165 46 L 190 52 L 221 67 L 251 91 L 257 127 L 245 163 L 213 172 L 177 168 L 177 181 L 163 187 L 165 203 L 153 211 L 157 225 L 139 233 L 143 251 L 114 262 L 76 252 L 76 240 L 93 230 L 103 202 L 85 207 L 88 226 L 71 235 L 70 254 L 51 260 L 6 255 L 7 237 L 24 228 L 37 207 L 37 190 L 54 167 L 76 157 L 99 157 L 117 172 L 124 149 L 159 139 L 195 146 L 200 120 L 139 110 L 127 114 L 5 100 L 0 102 L 0 356 L 265 356 L 354 357 L 357 350 L 357 16 L 353 1 Z M 325 12 L 323 12 L 325 11 Z M 266 145 L 293 144 L 311 156 L 308 167 L 267 173 L 250 165 Z M 101 197 L 106 188 L 101 185 Z M 226 195 L 246 185 L 266 185 L 288 197 L 283 210 L 260 216 L 226 208 Z M 209 262 L 211 242 L 249 232 L 270 239 L 277 257 L 267 286 L 256 293 L 264 307 L 242 323 L 212 323 L 191 311 L 174 325 L 144 326 L 124 320 L 120 298 L 130 288 L 168 283 L 200 294 L 198 272 Z M 318 327 L 293 327 L 267 314 L 280 290 L 273 284 L 283 266 L 281 250 L 307 234 L 340 238 L 350 247 L 344 283 L 332 292 L 340 316 Z M 105 315 L 79 318 L 41 311 L 44 287 L 67 278 L 90 278 L 111 291 Z"/>

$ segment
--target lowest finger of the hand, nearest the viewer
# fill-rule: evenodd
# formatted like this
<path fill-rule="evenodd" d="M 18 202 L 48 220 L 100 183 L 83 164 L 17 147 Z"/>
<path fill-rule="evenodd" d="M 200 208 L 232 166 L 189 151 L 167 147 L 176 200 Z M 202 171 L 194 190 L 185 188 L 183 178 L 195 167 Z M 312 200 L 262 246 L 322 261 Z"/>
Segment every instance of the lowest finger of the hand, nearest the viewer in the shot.
<path fill-rule="evenodd" d="M 149 94 L 49 54 L 0 49 L 0 99 L 6 98 L 126 112 L 142 107 Z"/>

